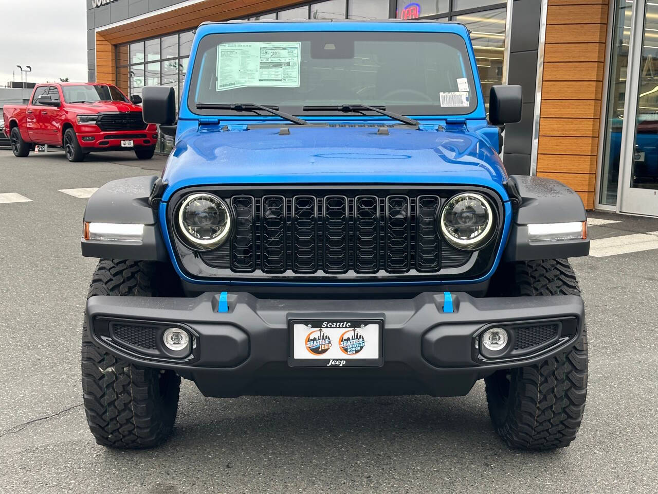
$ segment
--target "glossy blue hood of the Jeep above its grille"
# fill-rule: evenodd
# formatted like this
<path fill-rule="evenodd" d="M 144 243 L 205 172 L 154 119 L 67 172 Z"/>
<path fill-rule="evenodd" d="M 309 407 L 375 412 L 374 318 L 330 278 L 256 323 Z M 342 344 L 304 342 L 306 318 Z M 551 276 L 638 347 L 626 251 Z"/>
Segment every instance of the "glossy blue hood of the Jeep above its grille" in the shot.
<path fill-rule="evenodd" d="M 163 200 L 211 184 L 465 184 L 507 180 L 498 155 L 474 132 L 375 126 L 281 126 L 184 132 L 170 154 Z"/>

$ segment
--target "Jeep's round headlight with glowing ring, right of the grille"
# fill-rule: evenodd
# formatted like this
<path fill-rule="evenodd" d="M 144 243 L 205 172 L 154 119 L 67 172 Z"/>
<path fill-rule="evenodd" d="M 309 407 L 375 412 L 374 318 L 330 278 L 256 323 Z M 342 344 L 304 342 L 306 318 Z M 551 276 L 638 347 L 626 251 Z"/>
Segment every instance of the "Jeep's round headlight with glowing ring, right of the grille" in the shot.
<path fill-rule="evenodd" d="M 492 207 L 480 194 L 457 194 L 443 206 L 438 223 L 449 244 L 462 250 L 475 250 L 491 238 Z"/>

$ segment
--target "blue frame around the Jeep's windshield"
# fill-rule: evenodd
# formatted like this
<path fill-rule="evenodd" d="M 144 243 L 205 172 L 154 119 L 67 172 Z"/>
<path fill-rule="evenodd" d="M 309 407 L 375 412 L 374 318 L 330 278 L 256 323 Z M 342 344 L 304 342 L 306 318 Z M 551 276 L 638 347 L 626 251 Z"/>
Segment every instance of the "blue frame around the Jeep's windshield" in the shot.
<path fill-rule="evenodd" d="M 443 111 L 444 109 L 440 108 L 438 103 L 434 103 L 430 107 L 430 111 L 422 111 L 422 105 L 392 105 L 390 103 L 386 104 L 386 109 L 394 113 L 400 113 L 401 115 L 415 117 L 417 119 L 449 119 L 449 118 L 461 118 L 461 119 L 486 119 L 486 113 L 484 111 L 484 98 L 482 97 L 482 88 L 480 86 L 479 74 L 477 72 L 477 67 L 474 59 L 474 52 L 472 49 L 472 44 L 470 43 L 470 38 L 468 38 L 468 31 L 463 24 L 457 24 L 454 22 L 392 22 L 392 21 L 343 21 L 343 22 L 311 22 L 311 21 L 293 21 L 293 22 L 240 22 L 234 24 L 228 23 L 209 23 L 203 24 L 197 36 L 193 42 L 191 49 L 191 59 L 193 59 L 193 67 L 188 72 L 188 77 L 185 80 L 183 88 L 183 96 L 185 104 L 181 105 L 179 119 L 198 119 L 199 117 L 206 116 L 215 116 L 215 117 L 231 117 L 235 120 L 271 120 L 278 119 L 278 117 L 266 117 L 265 115 L 244 115 L 236 111 L 230 110 L 203 110 L 197 109 L 197 103 L 207 103 L 206 101 L 196 101 L 196 91 L 193 90 L 197 86 L 197 81 L 199 79 L 199 72 L 202 70 L 202 54 L 209 48 L 212 48 L 218 43 L 218 36 L 221 36 L 220 43 L 233 42 L 233 41 L 245 41 L 253 40 L 255 42 L 262 41 L 260 38 L 272 38 L 272 34 L 288 34 L 291 37 L 294 37 L 298 34 L 316 34 L 321 32 L 354 32 L 355 34 L 391 34 L 392 36 L 400 35 L 405 38 L 408 38 L 409 34 L 424 36 L 431 34 L 447 34 L 455 36 L 455 40 L 451 40 L 451 43 L 461 43 L 459 44 L 459 51 L 463 55 L 463 69 L 466 72 L 469 84 L 472 84 L 473 90 L 471 91 L 470 97 L 474 101 L 469 107 L 463 108 L 463 111 L 459 110 L 460 107 L 451 107 L 446 108 L 447 111 L 450 109 L 449 113 Z M 407 36 L 405 36 L 405 34 Z M 237 36 L 240 35 L 240 36 Z M 257 36 L 261 35 L 261 36 Z M 207 37 L 211 37 L 210 40 Z M 281 41 L 280 37 L 274 41 Z M 285 40 L 286 38 L 284 38 Z M 288 38 L 291 39 L 291 38 Z M 439 42 L 439 41 L 437 41 Z M 213 101 L 219 103 L 220 101 Z M 222 101 L 224 103 L 224 101 Z M 235 103 L 235 101 L 226 101 L 226 103 Z M 313 111 L 312 113 L 304 112 L 302 107 L 309 103 L 300 103 L 297 105 L 287 105 L 282 104 L 281 101 L 257 101 L 259 104 L 263 105 L 278 105 L 282 111 L 291 113 L 293 115 L 299 115 L 305 119 L 309 120 L 327 120 L 326 117 L 330 119 L 345 119 L 349 117 L 359 117 L 359 119 L 386 119 L 388 117 L 383 117 L 382 115 L 373 115 L 371 113 L 363 113 L 361 111 L 345 113 L 345 112 L 336 112 L 336 111 Z M 343 103 L 353 103 L 358 104 L 359 101 L 336 101 L 336 105 Z M 368 103 L 370 103 L 368 101 Z M 374 103 L 371 103 L 374 104 Z M 381 104 L 381 103 L 378 103 Z"/>

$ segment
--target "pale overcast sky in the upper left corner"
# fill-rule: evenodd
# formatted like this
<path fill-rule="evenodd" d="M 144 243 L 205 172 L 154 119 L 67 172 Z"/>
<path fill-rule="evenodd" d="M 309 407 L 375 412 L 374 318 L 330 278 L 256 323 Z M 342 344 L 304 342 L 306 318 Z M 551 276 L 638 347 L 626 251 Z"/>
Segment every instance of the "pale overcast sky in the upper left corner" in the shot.
<path fill-rule="evenodd" d="M 28 82 L 86 81 L 87 1 L 0 0 L 0 86 L 20 81 L 16 65 Z"/>

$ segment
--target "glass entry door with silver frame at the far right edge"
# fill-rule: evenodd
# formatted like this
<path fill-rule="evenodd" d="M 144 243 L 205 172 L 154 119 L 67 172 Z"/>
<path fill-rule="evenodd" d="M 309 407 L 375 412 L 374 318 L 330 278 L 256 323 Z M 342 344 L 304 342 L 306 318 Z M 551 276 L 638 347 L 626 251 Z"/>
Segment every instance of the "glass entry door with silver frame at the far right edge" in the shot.
<path fill-rule="evenodd" d="M 634 3 L 619 209 L 658 216 L 658 3 Z"/>

